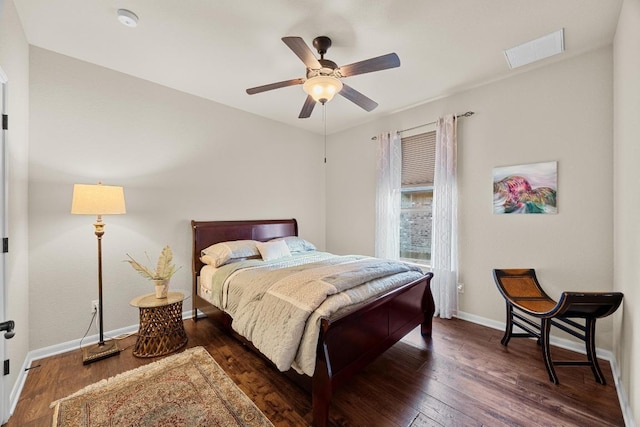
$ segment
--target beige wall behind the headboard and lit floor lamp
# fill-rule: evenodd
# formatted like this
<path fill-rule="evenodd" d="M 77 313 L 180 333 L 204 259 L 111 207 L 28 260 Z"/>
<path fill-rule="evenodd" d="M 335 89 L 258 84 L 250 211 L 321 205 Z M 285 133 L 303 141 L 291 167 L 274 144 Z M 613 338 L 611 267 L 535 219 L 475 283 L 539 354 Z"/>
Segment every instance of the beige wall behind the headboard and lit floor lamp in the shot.
<path fill-rule="evenodd" d="M 295 217 L 324 247 L 320 136 L 36 47 L 30 65 L 32 349 L 82 337 L 97 298 L 95 218 L 69 213 L 74 183 L 125 189 L 127 214 L 104 217 L 106 331 L 137 324 L 129 301 L 152 292 L 126 253 L 171 245 L 171 287 L 191 291 L 191 219 Z"/>

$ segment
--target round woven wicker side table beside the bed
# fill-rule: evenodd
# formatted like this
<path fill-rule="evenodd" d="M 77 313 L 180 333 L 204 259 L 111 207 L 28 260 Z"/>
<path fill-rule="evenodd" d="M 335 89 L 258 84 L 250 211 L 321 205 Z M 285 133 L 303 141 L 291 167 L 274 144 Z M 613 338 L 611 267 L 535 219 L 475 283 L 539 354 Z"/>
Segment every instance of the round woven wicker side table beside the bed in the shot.
<path fill-rule="evenodd" d="M 140 309 L 138 339 L 133 347 L 137 357 L 156 357 L 173 353 L 187 343 L 182 323 L 184 294 L 169 292 L 166 298 L 141 295 L 130 304 Z"/>

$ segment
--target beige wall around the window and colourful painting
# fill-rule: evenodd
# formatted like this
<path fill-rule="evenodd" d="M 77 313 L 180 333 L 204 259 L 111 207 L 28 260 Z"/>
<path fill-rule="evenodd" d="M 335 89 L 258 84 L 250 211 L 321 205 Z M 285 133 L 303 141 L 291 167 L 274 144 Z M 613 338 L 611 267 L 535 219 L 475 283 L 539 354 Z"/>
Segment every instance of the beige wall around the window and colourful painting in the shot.
<path fill-rule="evenodd" d="M 446 113 L 458 125 L 462 312 L 504 322 L 493 268 L 533 267 L 554 298 L 563 290 L 611 290 L 612 50 L 516 74 L 332 135 L 327 167 L 327 249 L 374 252 L 376 142 Z M 557 215 L 492 213 L 492 169 L 558 162 Z M 612 320 L 597 345 L 612 349 Z"/>

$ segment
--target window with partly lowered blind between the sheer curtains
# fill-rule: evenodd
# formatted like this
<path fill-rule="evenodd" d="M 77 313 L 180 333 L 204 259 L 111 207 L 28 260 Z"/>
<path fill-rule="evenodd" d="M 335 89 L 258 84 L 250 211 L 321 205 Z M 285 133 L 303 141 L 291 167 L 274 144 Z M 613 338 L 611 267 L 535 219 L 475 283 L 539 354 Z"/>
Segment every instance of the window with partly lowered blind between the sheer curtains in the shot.
<path fill-rule="evenodd" d="M 436 132 L 402 138 L 400 258 L 431 262 L 431 207 Z"/>

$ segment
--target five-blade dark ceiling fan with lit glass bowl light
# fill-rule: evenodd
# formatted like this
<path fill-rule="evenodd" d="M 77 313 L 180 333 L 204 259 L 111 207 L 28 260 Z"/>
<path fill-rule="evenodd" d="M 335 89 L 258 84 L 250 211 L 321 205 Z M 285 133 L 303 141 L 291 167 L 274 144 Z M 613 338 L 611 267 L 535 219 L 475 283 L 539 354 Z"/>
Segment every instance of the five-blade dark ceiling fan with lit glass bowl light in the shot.
<path fill-rule="evenodd" d="M 336 93 L 344 96 L 366 111 L 372 111 L 378 106 L 378 103 L 342 83 L 340 79 L 400 66 L 400 58 L 398 58 L 398 55 L 389 53 L 339 67 L 335 62 L 324 59 L 324 54 L 327 53 L 327 50 L 331 47 L 331 39 L 326 36 L 313 39 L 313 47 L 315 47 L 320 54 L 320 59 L 316 58 L 313 51 L 301 37 L 283 37 L 282 41 L 289 46 L 293 53 L 307 66 L 306 78 L 285 80 L 253 87 L 247 89 L 247 93 L 254 95 L 281 87 L 303 85 L 303 89 L 308 95 L 298 116 L 300 119 L 306 119 L 311 116 L 316 102 L 324 104 L 330 101 Z"/>

